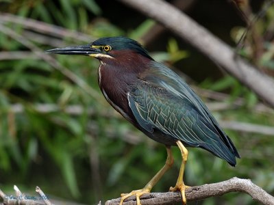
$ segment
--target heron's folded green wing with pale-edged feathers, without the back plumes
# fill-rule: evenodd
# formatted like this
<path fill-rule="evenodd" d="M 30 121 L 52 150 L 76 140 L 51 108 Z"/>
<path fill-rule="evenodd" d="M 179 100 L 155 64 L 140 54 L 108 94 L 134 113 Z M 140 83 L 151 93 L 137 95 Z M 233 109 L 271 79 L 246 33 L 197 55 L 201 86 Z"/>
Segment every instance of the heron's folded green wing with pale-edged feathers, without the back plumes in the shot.
<path fill-rule="evenodd" d="M 149 133 L 157 129 L 188 146 L 199 146 L 236 164 L 234 153 L 223 142 L 214 124 L 208 122 L 189 99 L 146 81 L 134 85 L 127 98 L 138 124 Z"/>

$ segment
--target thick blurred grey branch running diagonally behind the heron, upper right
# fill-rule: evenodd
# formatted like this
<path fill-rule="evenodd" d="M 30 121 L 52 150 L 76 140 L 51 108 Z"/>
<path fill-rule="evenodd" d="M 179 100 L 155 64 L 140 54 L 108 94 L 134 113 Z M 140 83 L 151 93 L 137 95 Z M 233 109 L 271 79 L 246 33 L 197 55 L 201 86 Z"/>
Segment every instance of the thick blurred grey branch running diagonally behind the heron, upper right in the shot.
<path fill-rule="evenodd" d="M 183 12 L 161 0 L 119 0 L 157 20 L 274 107 L 274 81 L 241 59 L 234 50 Z"/>

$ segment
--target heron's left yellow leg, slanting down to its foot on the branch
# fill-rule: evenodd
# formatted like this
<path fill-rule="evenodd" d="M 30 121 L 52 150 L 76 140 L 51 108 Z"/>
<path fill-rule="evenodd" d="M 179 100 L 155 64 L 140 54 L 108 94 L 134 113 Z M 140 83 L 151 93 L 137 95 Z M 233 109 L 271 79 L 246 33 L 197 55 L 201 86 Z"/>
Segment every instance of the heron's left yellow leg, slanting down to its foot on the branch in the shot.
<path fill-rule="evenodd" d="M 152 187 L 158 182 L 158 180 L 160 180 L 160 178 L 162 178 L 164 173 L 167 170 L 169 170 L 173 165 L 174 160 L 173 160 L 170 146 L 166 146 L 166 152 L 167 152 L 167 157 L 166 157 L 166 163 L 164 164 L 164 167 L 162 167 L 162 169 L 160 169 L 160 171 L 155 176 L 153 176 L 153 178 L 147 183 L 147 185 L 145 185 L 145 187 L 143 189 L 134 190 L 131 193 L 122 193 L 120 205 L 123 204 L 123 201 L 127 197 L 130 197 L 132 195 L 136 195 L 136 204 L 140 205 L 140 196 L 145 193 L 150 193 Z"/>

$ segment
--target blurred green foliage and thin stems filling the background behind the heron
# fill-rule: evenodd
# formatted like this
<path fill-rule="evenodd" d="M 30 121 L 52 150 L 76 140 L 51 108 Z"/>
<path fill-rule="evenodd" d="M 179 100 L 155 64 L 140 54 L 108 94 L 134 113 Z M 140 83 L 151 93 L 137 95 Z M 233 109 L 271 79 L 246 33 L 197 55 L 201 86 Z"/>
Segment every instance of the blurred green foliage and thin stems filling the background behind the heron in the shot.
<path fill-rule="evenodd" d="M 269 1 L 242 2 L 240 10 L 247 18 L 228 1 L 193 1 L 187 12 L 232 46 L 252 23 L 237 51 L 273 77 L 274 6 Z M 273 109 L 172 33 L 162 31 L 148 40 L 155 32 L 153 20 L 116 1 L 0 1 L 0 11 L 3 191 L 12 193 L 16 184 L 32 195 L 38 185 L 50 199 L 96 204 L 142 188 L 162 167 L 164 146 L 142 135 L 103 99 L 98 61 L 44 53 L 104 36 L 128 36 L 145 44 L 157 61 L 172 66 L 197 90 L 242 157 L 234 168 L 190 148 L 186 183 L 238 176 L 274 194 Z M 153 191 L 167 191 L 175 184 L 181 161 L 177 148 L 173 153 L 175 166 Z M 230 193 L 199 204 L 256 203 L 245 194 Z"/>

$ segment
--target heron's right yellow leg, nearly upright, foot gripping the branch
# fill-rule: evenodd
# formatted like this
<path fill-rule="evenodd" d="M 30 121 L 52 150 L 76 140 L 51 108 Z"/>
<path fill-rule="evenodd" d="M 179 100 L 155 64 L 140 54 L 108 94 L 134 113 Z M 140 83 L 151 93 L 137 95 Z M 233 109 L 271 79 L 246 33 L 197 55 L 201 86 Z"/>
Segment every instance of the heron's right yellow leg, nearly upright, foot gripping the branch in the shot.
<path fill-rule="evenodd" d="M 169 191 L 180 191 L 182 194 L 183 204 L 185 205 L 186 204 L 186 188 L 188 188 L 188 186 L 184 184 L 183 178 L 184 178 L 184 168 L 186 165 L 186 161 L 188 161 L 188 150 L 186 150 L 186 148 L 184 147 L 181 141 L 176 141 L 176 143 L 179 149 L 181 150 L 182 164 L 179 170 L 179 176 L 175 184 L 175 187 L 171 187 Z"/>

